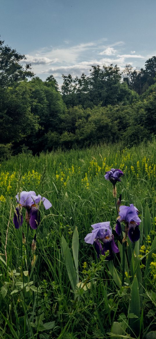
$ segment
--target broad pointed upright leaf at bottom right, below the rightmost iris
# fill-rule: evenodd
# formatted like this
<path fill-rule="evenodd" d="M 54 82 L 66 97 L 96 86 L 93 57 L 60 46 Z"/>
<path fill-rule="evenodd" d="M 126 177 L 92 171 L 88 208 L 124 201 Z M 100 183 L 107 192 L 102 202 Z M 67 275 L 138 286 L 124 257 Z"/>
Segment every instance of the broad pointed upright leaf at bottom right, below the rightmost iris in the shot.
<path fill-rule="evenodd" d="M 134 276 L 132 289 L 131 289 L 131 300 L 130 300 L 130 313 L 135 314 L 138 319 L 134 320 L 130 318 L 130 328 L 139 335 L 140 330 L 140 298 L 139 298 L 139 288 L 136 275 Z"/>

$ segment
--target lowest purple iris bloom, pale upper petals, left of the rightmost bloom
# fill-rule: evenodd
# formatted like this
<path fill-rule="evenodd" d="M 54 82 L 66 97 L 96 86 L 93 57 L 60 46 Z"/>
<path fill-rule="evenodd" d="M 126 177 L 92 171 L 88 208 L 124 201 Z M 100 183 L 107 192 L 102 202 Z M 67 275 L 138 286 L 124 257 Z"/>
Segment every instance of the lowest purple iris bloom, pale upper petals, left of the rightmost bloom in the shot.
<path fill-rule="evenodd" d="M 112 234 L 110 222 L 99 222 L 91 225 L 93 227 L 92 233 L 88 233 L 85 237 L 85 242 L 88 244 L 94 244 L 97 253 L 97 258 L 100 254 L 105 255 L 106 251 L 109 251 L 107 260 L 113 259 L 113 252 L 119 252 Z M 103 247 L 102 244 L 103 243 Z"/>

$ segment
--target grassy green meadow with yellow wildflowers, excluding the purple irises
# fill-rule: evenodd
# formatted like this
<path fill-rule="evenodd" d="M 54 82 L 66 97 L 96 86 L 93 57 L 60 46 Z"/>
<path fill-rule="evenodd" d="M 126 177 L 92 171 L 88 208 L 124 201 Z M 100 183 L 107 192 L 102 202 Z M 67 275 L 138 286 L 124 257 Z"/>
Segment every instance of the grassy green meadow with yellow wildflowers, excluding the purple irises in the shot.
<path fill-rule="evenodd" d="M 111 168 L 124 172 L 116 183 L 121 205 L 134 204 L 141 219 L 140 239 L 127 238 L 125 268 L 112 183 L 104 177 Z M 155 140 L 130 149 L 19 154 L 1 161 L 0 187 L 0 338 L 156 338 Z M 52 203 L 48 210 L 40 204 L 37 230 L 25 221 L 14 226 L 22 191 Z M 84 241 L 104 221 L 119 248 L 110 261 Z"/>

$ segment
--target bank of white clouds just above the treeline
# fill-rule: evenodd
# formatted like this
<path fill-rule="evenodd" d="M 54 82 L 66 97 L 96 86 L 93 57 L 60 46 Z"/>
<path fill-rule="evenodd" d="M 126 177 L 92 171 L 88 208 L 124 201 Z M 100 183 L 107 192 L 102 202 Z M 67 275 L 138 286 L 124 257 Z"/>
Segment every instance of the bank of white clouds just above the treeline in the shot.
<path fill-rule="evenodd" d="M 126 52 L 126 53 L 123 53 Z M 131 64 L 134 69 L 143 67 L 151 56 L 143 56 L 130 51 L 123 41 L 109 44 L 107 39 L 87 43 L 71 44 L 64 41 L 62 46 L 50 46 L 26 55 L 26 63 L 31 63 L 32 70 L 43 80 L 52 74 L 59 85 L 62 84 L 62 74 L 69 73 L 80 77 L 82 73 L 89 74 L 91 66 L 113 64 L 124 69 Z"/>

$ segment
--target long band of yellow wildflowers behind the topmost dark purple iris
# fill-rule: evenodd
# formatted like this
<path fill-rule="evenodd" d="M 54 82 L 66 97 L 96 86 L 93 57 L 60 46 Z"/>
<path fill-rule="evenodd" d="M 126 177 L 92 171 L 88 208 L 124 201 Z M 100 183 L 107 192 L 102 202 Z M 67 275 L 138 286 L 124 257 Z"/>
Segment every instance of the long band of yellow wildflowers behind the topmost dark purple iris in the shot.
<path fill-rule="evenodd" d="M 82 162 L 81 166 L 72 163 L 70 167 L 67 167 L 60 162 L 55 172 L 56 181 L 58 184 L 66 187 L 71 178 L 73 180 L 73 177 L 80 175 L 81 182 L 83 184 L 86 183 L 85 185 L 88 188 L 89 181 L 95 177 L 104 176 L 105 172 L 110 171 L 111 168 L 120 168 L 124 174 L 128 172 L 130 176 L 133 174 L 138 179 L 142 177 L 142 175 L 147 176 L 148 179 L 156 177 L 156 164 L 153 163 L 152 155 L 148 159 L 144 156 L 141 161 L 136 161 L 136 155 L 130 153 L 130 151 L 125 148 L 121 152 L 118 151 L 116 153 L 113 163 L 110 163 L 109 154 L 108 158 L 103 158 L 101 154 L 99 154 L 99 156 L 100 158 L 98 160 L 92 157 L 87 167 L 85 167 L 85 161 L 83 159 L 80 159 Z"/>

